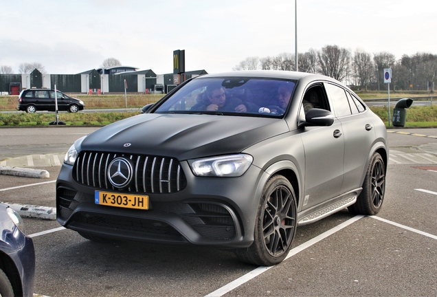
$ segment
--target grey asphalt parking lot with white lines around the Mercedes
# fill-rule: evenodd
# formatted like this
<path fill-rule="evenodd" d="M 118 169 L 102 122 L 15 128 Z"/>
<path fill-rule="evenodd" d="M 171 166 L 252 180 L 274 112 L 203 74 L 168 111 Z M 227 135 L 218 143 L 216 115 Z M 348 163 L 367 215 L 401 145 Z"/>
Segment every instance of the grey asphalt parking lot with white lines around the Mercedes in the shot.
<path fill-rule="evenodd" d="M 96 128 L 0 129 L 0 166 L 42 166 L 49 178 L 0 175 L 0 201 L 54 208 L 63 153 Z M 436 296 L 437 129 L 389 130 L 387 190 L 377 217 L 346 209 L 298 228 L 289 258 L 240 263 L 192 245 L 93 243 L 54 220 L 25 218 L 44 296 Z M 56 156 L 56 157 L 55 157 Z M 56 159 L 58 161 L 56 161 Z"/>

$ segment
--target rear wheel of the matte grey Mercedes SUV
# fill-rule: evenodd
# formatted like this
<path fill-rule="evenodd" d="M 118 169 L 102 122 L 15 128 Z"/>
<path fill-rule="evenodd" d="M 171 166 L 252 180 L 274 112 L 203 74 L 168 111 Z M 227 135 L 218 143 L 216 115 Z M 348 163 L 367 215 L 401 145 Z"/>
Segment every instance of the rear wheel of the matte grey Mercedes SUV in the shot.
<path fill-rule="evenodd" d="M 385 193 L 385 164 L 379 155 L 374 153 L 363 182 L 363 190 L 357 202 L 348 207 L 352 214 L 374 215 L 381 210 Z"/>

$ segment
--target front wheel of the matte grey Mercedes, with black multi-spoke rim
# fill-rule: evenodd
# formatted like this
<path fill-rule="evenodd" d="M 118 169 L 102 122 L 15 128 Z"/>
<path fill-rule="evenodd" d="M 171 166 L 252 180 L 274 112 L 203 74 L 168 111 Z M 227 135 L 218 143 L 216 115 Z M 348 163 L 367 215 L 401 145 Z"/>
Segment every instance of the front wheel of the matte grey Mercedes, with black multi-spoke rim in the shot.
<path fill-rule="evenodd" d="M 236 250 L 242 261 L 271 266 L 285 259 L 297 227 L 296 197 L 288 179 L 274 175 L 265 184 L 258 206 L 254 242 Z"/>

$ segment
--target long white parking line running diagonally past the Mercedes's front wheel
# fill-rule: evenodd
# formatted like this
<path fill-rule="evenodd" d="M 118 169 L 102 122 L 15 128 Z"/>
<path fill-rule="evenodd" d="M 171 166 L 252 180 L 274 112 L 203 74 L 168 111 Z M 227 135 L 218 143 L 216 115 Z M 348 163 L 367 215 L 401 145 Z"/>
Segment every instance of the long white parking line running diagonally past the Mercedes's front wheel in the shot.
<path fill-rule="evenodd" d="M 334 234 L 335 232 L 338 232 L 339 230 L 346 228 L 348 225 L 355 223 L 355 221 L 358 221 L 362 217 L 364 217 L 364 216 L 357 215 L 355 217 L 352 217 L 351 219 L 348 219 L 348 221 L 345 221 L 344 223 L 337 225 L 336 227 L 320 234 L 319 236 L 315 236 L 313 239 L 306 241 L 306 243 L 302 243 L 301 245 L 297 246 L 296 248 L 293 248 L 292 250 L 290 250 L 290 252 L 289 252 L 288 256 L 285 258 L 285 260 L 289 259 L 291 256 L 294 256 L 295 254 L 298 254 L 299 252 L 302 252 L 306 248 L 311 247 L 311 245 L 315 245 L 315 243 L 318 243 L 319 241 L 326 239 L 326 237 Z M 267 270 L 269 270 L 270 268 L 273 268 L 273 267 L 275 267 L 275 266 L 269 266 L 269 267 L 260 266 L 256 269 L 252 270 L 251 272 L 248 272 L 247 274 L 240 276 L 235 281 L 232 281 L 231 283 L 228 283 L 227 285 L 224 285 L 223 287 L 216 289 L 214 292 L 206 295 L 205 297 L 223 296 L 223 295 L 231 292 L 236 287 L 240 287 L 240 285 L 243 285 L 247 281 L 250 281 L 252 278 L 256 278 L 256 276 L 266 272 Z"/>

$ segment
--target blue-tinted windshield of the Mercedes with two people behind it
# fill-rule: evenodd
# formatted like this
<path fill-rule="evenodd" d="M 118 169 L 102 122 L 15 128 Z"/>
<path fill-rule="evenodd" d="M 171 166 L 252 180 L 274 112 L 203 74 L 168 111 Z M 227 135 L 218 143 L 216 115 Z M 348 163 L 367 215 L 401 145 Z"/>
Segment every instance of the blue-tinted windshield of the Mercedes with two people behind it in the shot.
<path fill-rule="evenodd" d="M 295 82 L 262 78 L 196 78 L 155 113 L 221 113 L 280 116 L 289 105 Z"/>

